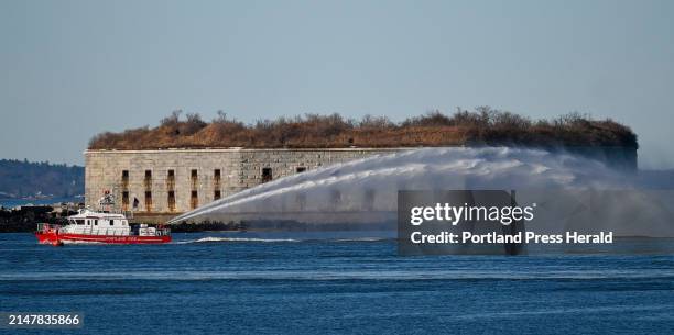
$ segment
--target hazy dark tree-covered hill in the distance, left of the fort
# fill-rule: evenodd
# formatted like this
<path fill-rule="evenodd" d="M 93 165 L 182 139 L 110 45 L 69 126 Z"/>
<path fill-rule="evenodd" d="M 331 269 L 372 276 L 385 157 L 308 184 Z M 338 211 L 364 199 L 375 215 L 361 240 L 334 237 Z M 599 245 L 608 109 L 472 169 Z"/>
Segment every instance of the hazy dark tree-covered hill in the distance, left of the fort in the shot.
<path fill-rule="evenodd" d="M 84 194 L 84 167 L 0 159 L 0 198 Z"/>

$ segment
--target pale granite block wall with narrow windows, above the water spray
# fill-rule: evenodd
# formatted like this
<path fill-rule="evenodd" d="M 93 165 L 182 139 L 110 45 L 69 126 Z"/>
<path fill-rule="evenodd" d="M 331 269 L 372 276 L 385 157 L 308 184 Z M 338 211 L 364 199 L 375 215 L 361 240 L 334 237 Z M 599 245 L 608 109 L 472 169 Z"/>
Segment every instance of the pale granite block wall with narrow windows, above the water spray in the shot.
<path fill-rule="evenodd" d="M 109 191 L 120 209 L 133 209 L 141 215 L 178 214 L 214 201 L 218 191 L 224 198 L 269 178 L 403 149 L 87 150 L 86 204 L 95 208 Z M 216 170 L 220 171 L 219 180 Z"/>

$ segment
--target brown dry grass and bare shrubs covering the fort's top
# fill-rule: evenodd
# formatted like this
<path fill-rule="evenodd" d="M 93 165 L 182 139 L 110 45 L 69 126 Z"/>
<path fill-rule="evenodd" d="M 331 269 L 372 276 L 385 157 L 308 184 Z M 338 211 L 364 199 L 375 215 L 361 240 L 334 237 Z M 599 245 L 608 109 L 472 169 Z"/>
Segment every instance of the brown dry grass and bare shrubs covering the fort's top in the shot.
<path fill-rule="evenodd" d="M 479 107 L 438 111 L 395 123 L 387 116 L 361 120 L 339 114 L 259 120 L 252 124 L 218 112 L 211 122 L 181 111 L 164 118 L 156 127 L 102 133 L 91 138 L 90 149 L 152 148 L 316 148 L 410 147 L 448 145 L 620 146 L 637 147 L 637 135 L 610 119 L 591 120 L 570 113 L 554 120 L 526 116 Z"/>

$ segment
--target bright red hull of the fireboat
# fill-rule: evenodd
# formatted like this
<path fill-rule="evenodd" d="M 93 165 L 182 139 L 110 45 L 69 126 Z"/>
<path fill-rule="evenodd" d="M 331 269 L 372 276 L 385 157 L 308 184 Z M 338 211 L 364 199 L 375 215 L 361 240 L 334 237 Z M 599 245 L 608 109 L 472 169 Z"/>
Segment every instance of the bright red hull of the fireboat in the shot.
<path fill-rule="evenodd" d="M 35 233 L 40 244 L 64 245 L 64 244 L 162 244 L 171 242 L 170 235 L 164 236 L 112 236 L 112 235 L 85 235 L 68 233 Z"/>

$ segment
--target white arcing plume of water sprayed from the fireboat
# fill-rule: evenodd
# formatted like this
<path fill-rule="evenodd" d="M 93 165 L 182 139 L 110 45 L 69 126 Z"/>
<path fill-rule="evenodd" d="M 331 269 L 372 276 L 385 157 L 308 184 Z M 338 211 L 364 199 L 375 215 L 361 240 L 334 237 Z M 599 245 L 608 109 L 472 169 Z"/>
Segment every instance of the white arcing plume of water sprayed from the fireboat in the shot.
<path fill-rule="evenodd" d="M 393 213 L 398 190 L 620 189 L 622 174 L 590 158 L 513 147 L 420 148 L 297 174 L 182 214 L 176 222 L 330 222 Z M 367 216 L 367 215 L 366 215 Z M 390 216 L 390 215 L 389 215 Z M 350 220 L 350 219 L 349 219 Z"/>

